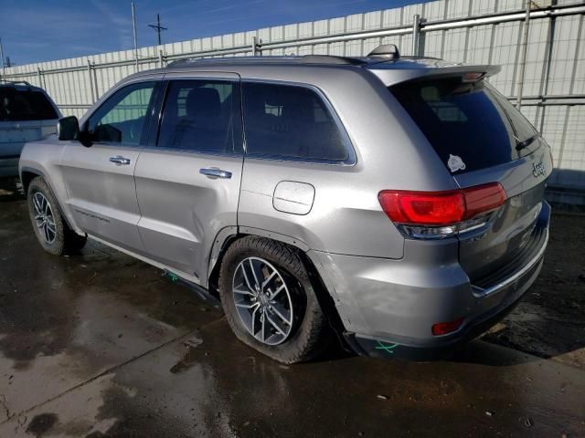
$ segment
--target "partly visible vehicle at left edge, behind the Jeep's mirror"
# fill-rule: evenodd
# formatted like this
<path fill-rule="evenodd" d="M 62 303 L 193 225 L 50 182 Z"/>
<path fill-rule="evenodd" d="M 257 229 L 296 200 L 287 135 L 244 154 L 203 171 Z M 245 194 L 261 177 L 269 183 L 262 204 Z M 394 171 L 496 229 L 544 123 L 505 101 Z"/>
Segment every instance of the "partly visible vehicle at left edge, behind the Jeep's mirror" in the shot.
<path fill-rule="evenodd" d="M 0 79 L 0 178 L 18 176 L 25 143 L 54 134 L 60 117 L 44 89 Z"/>

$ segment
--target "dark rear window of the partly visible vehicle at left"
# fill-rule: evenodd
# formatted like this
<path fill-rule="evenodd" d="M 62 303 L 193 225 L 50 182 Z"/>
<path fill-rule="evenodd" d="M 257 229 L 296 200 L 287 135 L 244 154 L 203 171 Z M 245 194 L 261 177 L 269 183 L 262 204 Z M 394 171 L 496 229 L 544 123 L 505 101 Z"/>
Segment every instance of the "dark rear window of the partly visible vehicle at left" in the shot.
<path fill-rule="evenodd" d="M 0 121 L 52 119 L 57 112 L 40 91 L 0 88 Z"/>

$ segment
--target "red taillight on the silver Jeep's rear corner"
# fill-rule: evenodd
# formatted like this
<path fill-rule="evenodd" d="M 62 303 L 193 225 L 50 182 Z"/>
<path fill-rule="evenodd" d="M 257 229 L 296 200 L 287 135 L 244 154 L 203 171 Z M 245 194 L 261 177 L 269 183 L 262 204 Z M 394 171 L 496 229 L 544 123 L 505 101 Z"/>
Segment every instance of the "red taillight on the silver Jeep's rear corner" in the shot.
<path fill-rule="evenodd" d="M 448 192 L 384 190 L 378 194 L 388 218 L 413 237 L 446 237 L 483 225 L 505 203 L 500 183 Z"/>

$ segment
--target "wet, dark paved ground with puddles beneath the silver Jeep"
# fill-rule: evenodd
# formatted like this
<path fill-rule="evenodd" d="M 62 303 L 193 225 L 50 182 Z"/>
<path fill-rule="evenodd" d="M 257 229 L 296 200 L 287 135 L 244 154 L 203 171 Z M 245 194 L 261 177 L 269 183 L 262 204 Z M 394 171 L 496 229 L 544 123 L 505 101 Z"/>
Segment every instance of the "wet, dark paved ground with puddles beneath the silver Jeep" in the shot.
<path fill-rule="evenodd" d="M 154 267 L 44 253 L 0 196 L 0 437 L 585 436 L 584 230 L 554 216 L 525 302 L 453 360 L 283 366 Z"/>

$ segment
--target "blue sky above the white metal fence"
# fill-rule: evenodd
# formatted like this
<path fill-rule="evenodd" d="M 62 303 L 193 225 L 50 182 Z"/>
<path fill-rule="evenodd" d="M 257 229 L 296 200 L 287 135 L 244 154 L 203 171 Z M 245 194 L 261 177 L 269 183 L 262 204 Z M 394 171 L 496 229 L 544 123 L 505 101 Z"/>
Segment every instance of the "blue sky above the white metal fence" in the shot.
<path fill-rule="evenodd" d="M 138 44 L 156 44 L 147 26 L 156 13 L 169 43 L 413 3 L 420 0 L 136 0 Z M 5 56 L 20 65 L 130 49 L 131 2 L 0 0 L 0 38 Z"/>

